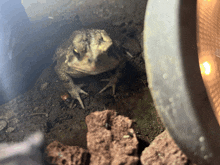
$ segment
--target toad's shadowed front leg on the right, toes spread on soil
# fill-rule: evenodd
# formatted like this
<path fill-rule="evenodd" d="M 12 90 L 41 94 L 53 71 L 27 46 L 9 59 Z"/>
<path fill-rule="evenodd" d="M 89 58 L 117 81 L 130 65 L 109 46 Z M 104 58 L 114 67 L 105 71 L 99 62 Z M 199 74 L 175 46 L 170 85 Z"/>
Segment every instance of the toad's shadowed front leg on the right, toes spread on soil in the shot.
<path fill-rule="evenodd" d="M 122 69 L 125 67 L 126 62 L 121 62 L 120 66 L 116 69 L 116 73 L 111 76 L 109 79 L 102 79 L 101 81 L 109 81 L 109 83 L 99 92 L 104 92 L 107 88 L 112 87 L 113 95 L 115 95 L 115 88 L 118 82 L 118 79 L 122 76 Z"/>

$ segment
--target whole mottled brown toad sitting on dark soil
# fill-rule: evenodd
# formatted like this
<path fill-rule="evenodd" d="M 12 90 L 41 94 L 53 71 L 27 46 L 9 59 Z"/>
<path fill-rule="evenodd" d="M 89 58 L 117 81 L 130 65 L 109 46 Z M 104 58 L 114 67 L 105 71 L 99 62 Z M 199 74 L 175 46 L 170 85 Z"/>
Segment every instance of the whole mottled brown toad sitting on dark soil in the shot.
<path fill-rule="evenodd" d="M 74 31 L 70 38 L 56 51 L 54 60 L 57 61 L 55 71 L 71 97 L 77 99 L 82 108 L 84 105 L 80 93 L 88 95 L 80 86 L 74 84 L 72 78 L 80 78 L 88 75 L 97 75 L 124 65 L 124 58 L 120 55 L 120 49 L 109 35 L 100 29 L 87 29 Z M 115 85 L 120 71 L 109 79 L 109 83 L 99 93 L 108 87 Z"/>

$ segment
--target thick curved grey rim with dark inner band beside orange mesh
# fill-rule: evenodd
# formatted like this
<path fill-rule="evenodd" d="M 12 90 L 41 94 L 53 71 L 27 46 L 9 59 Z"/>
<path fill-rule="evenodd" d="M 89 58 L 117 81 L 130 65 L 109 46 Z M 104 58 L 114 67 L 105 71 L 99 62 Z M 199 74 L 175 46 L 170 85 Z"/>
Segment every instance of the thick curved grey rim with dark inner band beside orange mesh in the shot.
<path fill-rule="evenodd" d="M 208 2 L 208 1 L 207 1 Z M 197 164 L 220 164 L 220 130 L 199 68 L 197 1 L 149 0 L 144 56 L 157 111 Z"/>

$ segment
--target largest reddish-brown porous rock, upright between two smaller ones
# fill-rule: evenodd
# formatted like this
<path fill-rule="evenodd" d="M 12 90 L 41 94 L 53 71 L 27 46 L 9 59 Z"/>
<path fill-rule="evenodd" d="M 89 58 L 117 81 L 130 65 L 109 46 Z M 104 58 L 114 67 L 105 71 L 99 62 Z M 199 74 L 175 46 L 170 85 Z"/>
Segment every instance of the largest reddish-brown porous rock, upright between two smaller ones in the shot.
<path fill-rule="evenodd" d="M 116 116 L 115 111 L 94 112 L 86 117 L 87 147 L 92 165 L 135 165 L 138 140 L 131 128 L 132 120 Z"/>

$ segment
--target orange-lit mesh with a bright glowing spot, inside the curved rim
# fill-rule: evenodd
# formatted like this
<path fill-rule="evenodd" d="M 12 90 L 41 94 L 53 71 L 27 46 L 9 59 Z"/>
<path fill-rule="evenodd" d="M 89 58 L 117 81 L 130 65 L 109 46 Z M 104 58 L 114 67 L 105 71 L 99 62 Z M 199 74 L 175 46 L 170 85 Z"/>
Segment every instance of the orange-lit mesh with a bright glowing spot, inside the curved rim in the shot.
<path fill-rule="evenodd" d="M 220 0 L 197 0 L 197 46 L 202 78 L 220 123 Z"/>

